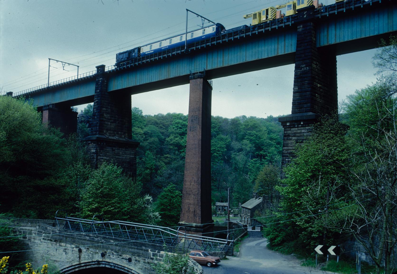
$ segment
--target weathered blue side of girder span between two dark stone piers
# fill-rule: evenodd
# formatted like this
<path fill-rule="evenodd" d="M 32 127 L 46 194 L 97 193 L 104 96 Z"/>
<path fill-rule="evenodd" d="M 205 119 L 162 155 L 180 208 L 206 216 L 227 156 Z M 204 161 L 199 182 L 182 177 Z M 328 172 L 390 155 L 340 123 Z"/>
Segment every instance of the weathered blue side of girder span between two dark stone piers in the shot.
<path fill-rule="evenodd" d="M 205 49 L 197 51 L 197 54 L 192 52 L 192 54 L 183 54 L 183 57 L 163 58 L 161 61 L 153 62 L 150 66 L 137 66 L 132 70 L 112 73 L 109 77 L 108 91 L 181 76 L 186 76 L 185 82 L 188 83 L 189 77 L 187 76 L 190 69 L 204 67 L 206 71 L 211 71 L 295 52 L 296 32 L 292 28 L 269 31 L 255 36 L 241 38 L 238 42 L 230 41 L 223 42 L 222 45 L 207 46 Z M 252 70 L 255 70 L 255 68 L 252 68 Z M 235 71 L 235 74 L 237 73 L 239 71 Z M 183 84 L 183 82 L 179 84 Z M 134 91 L 132 90 L 132 92 Z"/>

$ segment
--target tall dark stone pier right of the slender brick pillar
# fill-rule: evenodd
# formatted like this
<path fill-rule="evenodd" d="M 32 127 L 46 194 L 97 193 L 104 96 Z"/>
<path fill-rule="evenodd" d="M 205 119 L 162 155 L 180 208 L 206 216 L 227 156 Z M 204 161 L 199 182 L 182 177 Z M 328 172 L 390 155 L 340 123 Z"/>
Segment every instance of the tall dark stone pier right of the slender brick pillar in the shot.
<path fill-rule="evenodd" d="M 312 14 L 312 9 L 299 13 Z M 316 47 L 316 22 L 302 17 L 297 25 L 291 115 L 279 118 L 284 128 L 282 167 L 295 157 L 295 146 L 311 134 L 312 125 L 323 115 L 337 113 L 337 107 L 335 52 Z"/>

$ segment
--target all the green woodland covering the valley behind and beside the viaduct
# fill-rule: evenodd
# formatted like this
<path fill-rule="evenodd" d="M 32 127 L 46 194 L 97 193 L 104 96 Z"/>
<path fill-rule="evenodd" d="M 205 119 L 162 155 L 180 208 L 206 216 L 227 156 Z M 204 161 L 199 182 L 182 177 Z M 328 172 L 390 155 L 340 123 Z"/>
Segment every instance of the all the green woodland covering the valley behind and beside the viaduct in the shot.
<path fill-rule="evenodd" d="M 283 170 L 283 128 L 277 117 L 212 117 L 212 203 L 237 207 L 252 192 L 269 203 L 256 218 L 269 246 L 309 256 L 317 244 L 359 243 L 385 274 L 395 270 L 397 239 L 397 40 L 382 41 L 374 56 L 378 82 L 357 90 L 341 113 L 322 117 Z M 0 96 L 0 213 L 2 217 L 69 216 L 175 226 L 181 192 L 187 115 L 143 115 L 132 108 L 132 135 L 140 142 L 137 178 L 117 163 L 93 169 L 82 138 L 92 105 L 79 115 L 78 134 L 46 128 L 24 98 Z M 12 235 L 0 218 L 0 236 Z M 17 249 L 0 238 L 0 251 Z M 15 253 L 14 253 L 15 254 Z M 17 255 L 13 255 L 17 256 Z M 17 262 L 17 259 L 12 261 Z"/>

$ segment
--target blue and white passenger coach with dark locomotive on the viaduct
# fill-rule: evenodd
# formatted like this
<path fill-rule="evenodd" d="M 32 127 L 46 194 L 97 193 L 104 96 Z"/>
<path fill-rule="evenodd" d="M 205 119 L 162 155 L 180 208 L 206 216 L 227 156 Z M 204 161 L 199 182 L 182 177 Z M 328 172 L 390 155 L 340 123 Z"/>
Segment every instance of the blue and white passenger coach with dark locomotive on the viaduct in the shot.
<path fill-rule="evenodd" d="M 189 44 L 191 42 L 196 42 L 216 36 L 218 34 L 221 34 L 221 32 L 224 30 L 225 27 L 222 24 L 216 23 L 213 25 L 209 25 L 207 27 L 197 29 L 195 31 L 189 31 L 187 33 L 187 43 Z M 131 50 L 119 52 L 118 54 L 116 54 L 115 66 L 118 67 L 122 65 L 124 62 L 140 56 L 146 56 L 147 54 L 153 54 L 156 52 L 169 50 L 183 45 L 185 45 L 185 33 L 168 37 L 163 40 L 158 40 L 156 42 L 152 42 L 144 46 L 133 48 Z"/>

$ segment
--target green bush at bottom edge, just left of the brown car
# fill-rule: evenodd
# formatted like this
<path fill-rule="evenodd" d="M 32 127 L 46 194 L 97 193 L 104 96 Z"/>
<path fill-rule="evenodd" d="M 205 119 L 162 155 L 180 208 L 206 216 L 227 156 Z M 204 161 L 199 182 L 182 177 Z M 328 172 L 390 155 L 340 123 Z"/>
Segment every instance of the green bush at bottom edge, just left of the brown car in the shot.
<path fill-rule="evenodd" d="M 193 266 L 188 261 L 187 254 L 166 253 L 161 262 L 153 264 L 153 268 L 157 274 L 194 274 Z"/>

